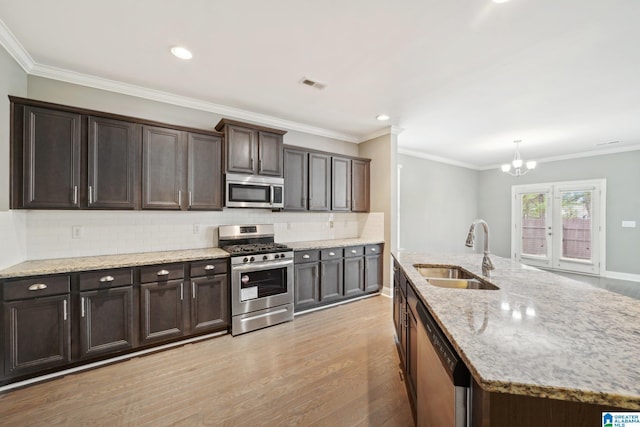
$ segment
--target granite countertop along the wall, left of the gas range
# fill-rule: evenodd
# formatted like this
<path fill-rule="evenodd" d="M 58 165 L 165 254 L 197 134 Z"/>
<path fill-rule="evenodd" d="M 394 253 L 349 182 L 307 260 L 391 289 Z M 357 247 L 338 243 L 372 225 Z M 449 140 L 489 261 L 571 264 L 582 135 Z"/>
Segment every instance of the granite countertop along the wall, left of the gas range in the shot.
<path fill-rule="evenodd" d="M 228 257 L 229 253 L 222 249 L 205 248 L 121 255 L 99 255 L 77 258 L 43 259 L 21 262 L 20 264 L 0 270 L 0 279 Z"/>

